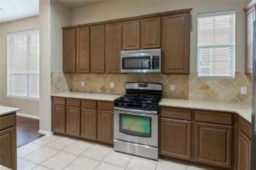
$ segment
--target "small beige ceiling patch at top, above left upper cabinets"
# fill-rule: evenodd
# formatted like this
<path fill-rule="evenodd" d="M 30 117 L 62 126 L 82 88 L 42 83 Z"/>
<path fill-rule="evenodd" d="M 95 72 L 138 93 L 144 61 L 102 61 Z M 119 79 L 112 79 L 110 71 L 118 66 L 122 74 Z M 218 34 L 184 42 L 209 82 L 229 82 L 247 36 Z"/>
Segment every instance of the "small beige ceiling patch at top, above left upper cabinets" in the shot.
<path fill-rule="evenodd" d="M 91 5 L 99 2 L 104 2 L 107 0 L 58 0 L 58 1 L 70 8 L 76 8 L 78 6 Z"/>

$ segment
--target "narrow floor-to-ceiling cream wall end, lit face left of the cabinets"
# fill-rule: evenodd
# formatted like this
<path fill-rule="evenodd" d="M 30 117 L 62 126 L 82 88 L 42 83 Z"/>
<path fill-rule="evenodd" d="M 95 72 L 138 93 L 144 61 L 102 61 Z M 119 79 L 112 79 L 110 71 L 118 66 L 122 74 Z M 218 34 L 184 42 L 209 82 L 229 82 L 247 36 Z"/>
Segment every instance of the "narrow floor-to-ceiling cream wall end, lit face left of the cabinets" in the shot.
<path fill-rule="evenodd" d="M 40 101 L 39 129 L 51 131 L 51 39 L 50 0 L 39 1 L 40 20 Z"/>

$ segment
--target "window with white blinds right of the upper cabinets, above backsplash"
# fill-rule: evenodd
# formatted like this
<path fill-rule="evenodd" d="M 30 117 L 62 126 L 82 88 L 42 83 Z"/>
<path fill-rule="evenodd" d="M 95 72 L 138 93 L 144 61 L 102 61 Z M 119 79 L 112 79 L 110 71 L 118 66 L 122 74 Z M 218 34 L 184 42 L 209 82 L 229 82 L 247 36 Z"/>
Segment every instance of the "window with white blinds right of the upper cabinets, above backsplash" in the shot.
<path fill-rule="evenodd" d="M 198 15 L 198 76 L 234 77 L 235 11 Z"/>

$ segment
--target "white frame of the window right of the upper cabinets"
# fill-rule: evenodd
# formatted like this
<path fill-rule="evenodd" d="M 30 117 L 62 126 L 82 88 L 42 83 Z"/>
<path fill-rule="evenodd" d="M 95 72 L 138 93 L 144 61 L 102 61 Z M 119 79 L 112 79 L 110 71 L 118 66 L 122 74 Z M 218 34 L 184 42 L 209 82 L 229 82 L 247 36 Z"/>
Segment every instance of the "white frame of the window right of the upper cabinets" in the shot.
<path fill-rule="evenodd" d="M 233 74 L 232 75 L 214 75 L 214 74 L 209 74 L 209 75 L 202 75 L 202 74 L 199 74 L 199 54 L 198 54 L 198 51 L 200 49 L 200 46 L 199 46 L 199 18 L 204 18 L 204 17 L 213 17 L 213 16 L 223 16 L 223 15 L 228 15 L 228 14 L 234 14 L 234 45 L 232 45 L 232 47 L 234 47 L 234 59 L 233 59 Z M 203 17 L 199 17 L 200 15 L 203 15 Z M 228 79 L 234 79 L 235 76 L 236 76 L 236 10 L 226 10 L 226 11 L 217 11 L 217 12 L 209 12 L 209 13 L 200 13 L 198 14 L 197 16 L 197 49 L 196 49 L 196 75 L 197 77 L 199 78 L 228 78 Z M 205 47 L 209 47 L 210 46 L 213 48 L 213 47 L 229 47 L 229 45 L 205 45 Z M 202 46 L 204 47 L 204 46 Z M 212 62 L 209 62 L 210 64 L 215 64 L 212 63 Z"/>

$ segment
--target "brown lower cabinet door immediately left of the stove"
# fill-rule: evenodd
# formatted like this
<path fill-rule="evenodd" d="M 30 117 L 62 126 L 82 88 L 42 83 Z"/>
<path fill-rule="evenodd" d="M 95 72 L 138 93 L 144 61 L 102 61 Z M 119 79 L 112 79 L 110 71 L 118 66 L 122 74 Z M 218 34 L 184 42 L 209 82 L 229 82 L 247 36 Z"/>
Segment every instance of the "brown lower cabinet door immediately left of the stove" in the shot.
<path fill-rule="evenodd" d="M 98 140 L 113 144 L 114 117 L 112 111 L 98 111 Z"/>

